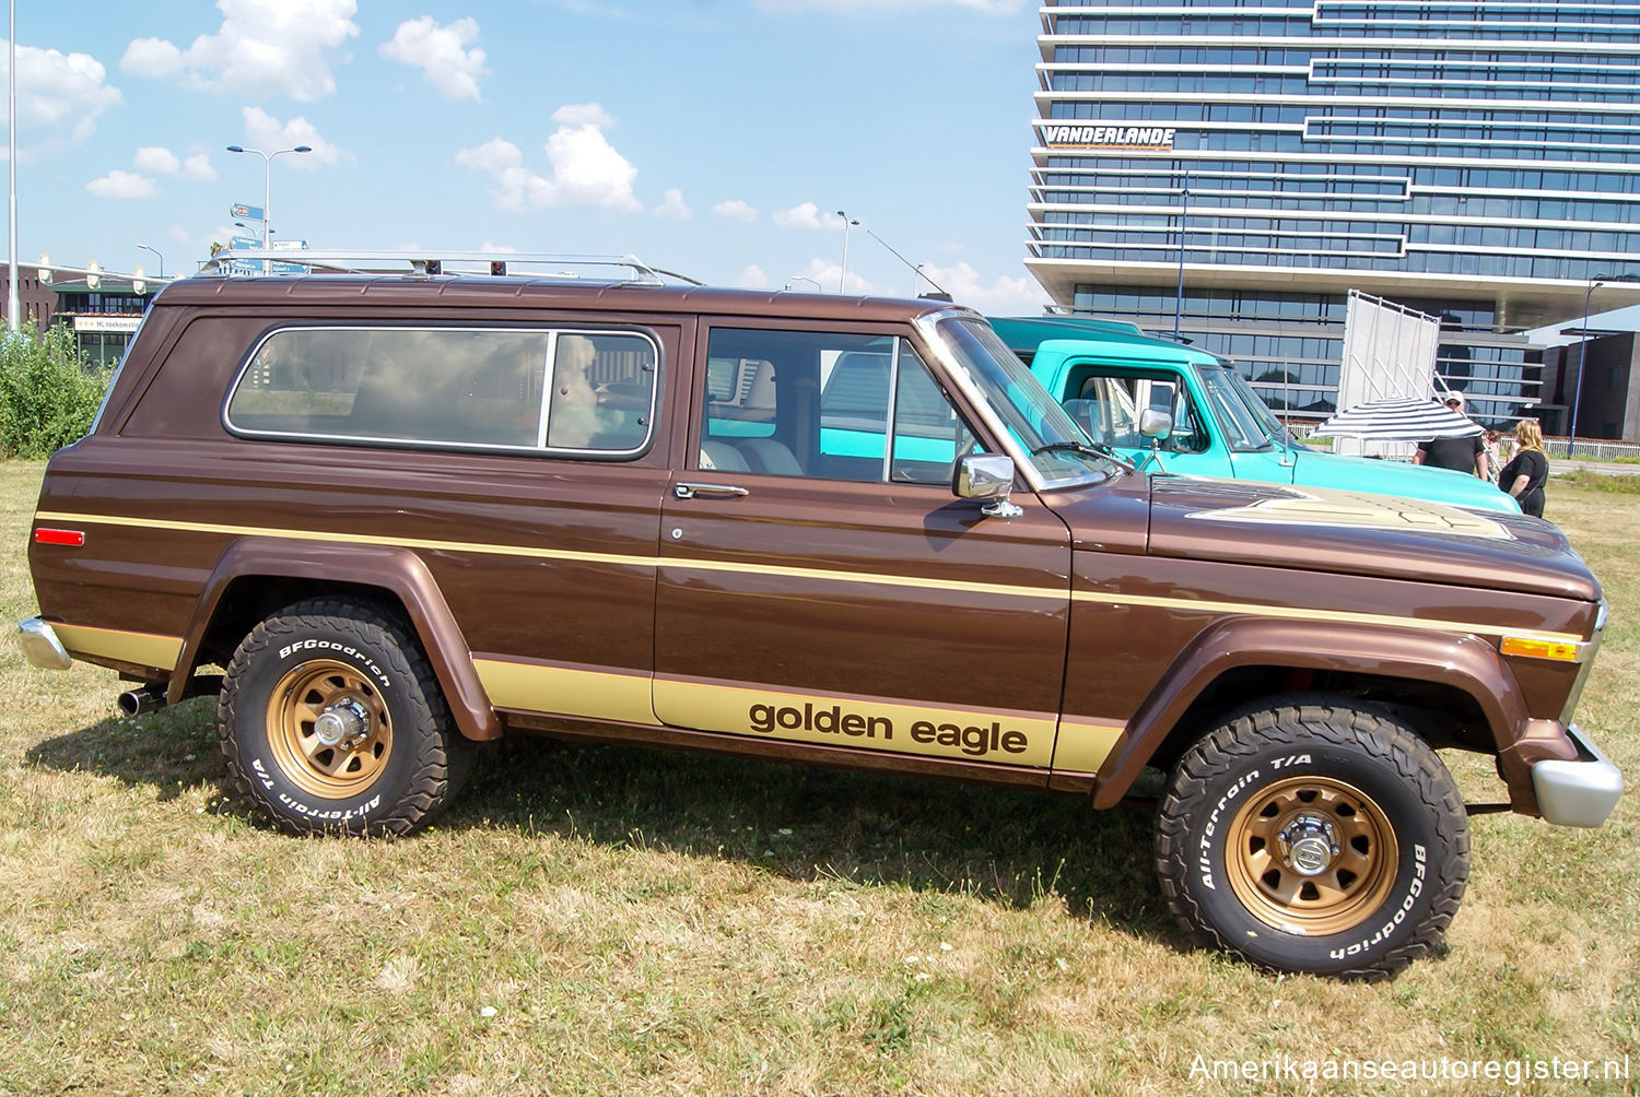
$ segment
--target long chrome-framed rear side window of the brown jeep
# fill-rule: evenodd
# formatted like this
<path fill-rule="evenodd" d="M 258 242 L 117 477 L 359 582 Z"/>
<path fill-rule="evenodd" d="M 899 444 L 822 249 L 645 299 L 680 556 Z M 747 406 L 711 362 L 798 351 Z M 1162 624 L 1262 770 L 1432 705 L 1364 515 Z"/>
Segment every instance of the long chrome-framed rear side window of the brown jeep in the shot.
<path fill-rule="evenodd" d="M 228 398 L 253 436 L 633 454 L 654 421 L 643 333 L 282 328 Z"/>

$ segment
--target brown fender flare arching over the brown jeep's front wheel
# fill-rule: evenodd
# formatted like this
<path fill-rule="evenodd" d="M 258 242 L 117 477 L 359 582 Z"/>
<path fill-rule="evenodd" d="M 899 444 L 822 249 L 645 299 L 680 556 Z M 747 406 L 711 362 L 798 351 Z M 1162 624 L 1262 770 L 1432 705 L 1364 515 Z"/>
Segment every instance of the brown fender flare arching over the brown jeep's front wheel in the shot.
<path fill-rule="evenodd" d="M 1112 807 L 1122 800 L 1202 690 L 1225 672 L 1248 666 L 1351 671 L 1451 685 L 1476 700 L 1499 751 L 1527 726 L 1520 687 L 1497 649 L 1479 636 L 1230 618 L 1204 630 L 1140 703 L 1099 769 L 1094 805 Z"/>

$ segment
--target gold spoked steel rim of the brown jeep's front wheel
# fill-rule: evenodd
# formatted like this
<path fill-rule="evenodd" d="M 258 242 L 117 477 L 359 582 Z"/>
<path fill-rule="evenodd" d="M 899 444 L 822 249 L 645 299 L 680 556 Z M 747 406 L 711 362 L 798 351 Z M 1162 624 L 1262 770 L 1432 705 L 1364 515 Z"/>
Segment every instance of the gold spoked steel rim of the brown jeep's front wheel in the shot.
<path fill-rule="evenodd" d="M 1241 905 L 1287 933 L 1353 930 L 1376 912 L 1401 856 L 1389 818 L 1332 777 L 1289 777 L 1256 792 L 1230 823 L 1225 876 Z"/>

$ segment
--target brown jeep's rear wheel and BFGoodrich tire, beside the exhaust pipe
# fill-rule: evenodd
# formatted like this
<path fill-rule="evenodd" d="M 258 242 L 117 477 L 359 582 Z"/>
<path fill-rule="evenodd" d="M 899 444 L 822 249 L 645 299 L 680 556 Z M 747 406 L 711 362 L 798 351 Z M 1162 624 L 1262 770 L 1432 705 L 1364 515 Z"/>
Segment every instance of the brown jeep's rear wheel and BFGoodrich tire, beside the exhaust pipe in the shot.
<path fill-rule="evenodd" d="M 297 835 L 403 835 L 471 769 L 420 644 L 351 602 L 298 602 L 251 630 L 216 721 L 238 789 Z"/>

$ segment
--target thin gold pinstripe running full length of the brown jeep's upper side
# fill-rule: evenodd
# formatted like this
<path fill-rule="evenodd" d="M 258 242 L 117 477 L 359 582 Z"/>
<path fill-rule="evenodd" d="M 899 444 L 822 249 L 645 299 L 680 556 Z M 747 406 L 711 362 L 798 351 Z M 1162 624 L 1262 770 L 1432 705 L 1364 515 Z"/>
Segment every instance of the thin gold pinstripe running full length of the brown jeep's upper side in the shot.
<path fill-rule="evenodd" d="M 318 530 L 280 530 L 261 526 L 233 526 L 208 521 L 174 521 L 123 518 L 102 515 L 71 515 L 41 512 L 36 521 L 49 523 L 82 523 L 131 526 L 141 530 L 179 530 L 190 533 L 216 533 L 226 536 L 271 536 L 298 541 L 323 541 L 335 544 L 376 544 L 385 548 L 420 548 L 446 553 L 487 553 L 495 556 L 523 556 L 531 559 L 561 559 L 571 562 L 615 564 L 623 567 L 681 567 L 687 571 L 715 571 L 731 574 L 786 576 L 794 579 L 817 579 L 825 582 L 871 584 L 887 587 L 922 589 L 936 592 L 966 592 L 984 595 L 1005 595 L 1018 599 L 1048 599 L 1064 602 L 1073 599 L 1092 605 L 1145 605 L 1187 613 L 1215 613 L 1241 617 L 1271 617 L 1281 620 L 1351 623 L 1351 625 L 1387 625 L 1394 628 L 1417 628 L 1440 633 L 1473 633 L 1478 636 L 1520 636 L 1525 640 L 1542 640 L 1547 643 L 1583 643 L 1576 633 L 1540 631 L 1532 628 L 1512 628 L 1507 625 L 1479 625 L 1474 621 L 1430 620 L 1419 617 L 1397 617 L 1392 613 L 1360 613 L 1351 610 L 1322 610 L 1309 607 L 1268 605 L 1261 602 L 1215 602 L 1205 599 L 1174 599 L 1158 595 L 1114 594 L 1105 590 L 1063 590 L 1058 587 L 1022 587 L 1014 584 L 964 582 L 951 579 L 927 579 L 917 576 L 887 576 L 876 572 L 851 572 L 822 567 L 784 567 L 777 564 L 740 564 L 733 561 L 682 559 L 663 556 L 628 556 L 618 553 L 577 553 L 569 549 L 533 548 L 525 544 L 481 544 L 476 541 L 438 541 L 430 538 L 390 538 L 366 533 L 331 533 Z"/>

